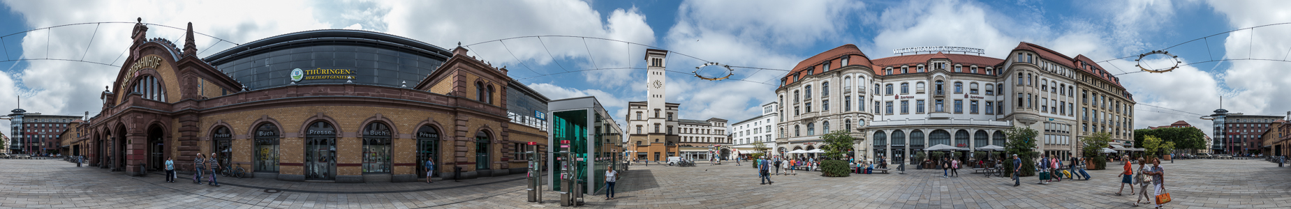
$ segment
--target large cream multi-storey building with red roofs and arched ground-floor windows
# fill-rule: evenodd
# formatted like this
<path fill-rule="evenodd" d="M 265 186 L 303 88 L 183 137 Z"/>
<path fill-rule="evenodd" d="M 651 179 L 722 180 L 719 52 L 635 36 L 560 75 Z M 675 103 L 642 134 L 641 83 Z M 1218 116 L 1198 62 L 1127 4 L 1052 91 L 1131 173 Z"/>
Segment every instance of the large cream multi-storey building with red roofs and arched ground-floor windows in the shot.
<path fill-rule="evenodd" d="M 939 52 L 871 61 L 848 44 L 817 54 L 776 89 L 776 152 L 818 148 L 821 135 L 846 130 L 857 138 L 851 154 L 864 159 L 913 163 L 914 154 L 946 144 L 967 160 L 979 147 L 1003 147 L 1012 126 L 1032 126 L 1037 151 L 1072 156 L 1082 71 L 1046 68 L 1039 58 L 1078 61 L 1026 43 L 1010 57 L 1017 53 L 1022 59 Z"/>

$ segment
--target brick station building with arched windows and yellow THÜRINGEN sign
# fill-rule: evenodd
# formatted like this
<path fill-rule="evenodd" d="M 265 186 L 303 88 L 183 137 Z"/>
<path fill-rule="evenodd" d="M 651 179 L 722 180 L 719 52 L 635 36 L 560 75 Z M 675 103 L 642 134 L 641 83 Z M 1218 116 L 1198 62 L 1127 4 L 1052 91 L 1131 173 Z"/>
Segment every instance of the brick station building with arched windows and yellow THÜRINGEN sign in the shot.
<path fill-rule="evenodd" d="M 519 174 L 520 144 L 547 143 L 550 99 L 461 46 L 318 30 L 199 58 L 191 23 L 182 45 L 147 31 L 81 126 L 92 166 L 191 173 L 200 154 L 254 178 L 413 182 Z"/>

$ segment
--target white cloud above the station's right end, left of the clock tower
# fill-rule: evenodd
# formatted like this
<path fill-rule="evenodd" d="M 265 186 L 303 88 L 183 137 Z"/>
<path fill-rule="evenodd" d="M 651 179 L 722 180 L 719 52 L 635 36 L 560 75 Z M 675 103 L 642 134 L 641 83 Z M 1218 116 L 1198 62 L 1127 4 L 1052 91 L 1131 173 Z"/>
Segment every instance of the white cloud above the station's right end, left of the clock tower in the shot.
<path fill-rule="evenodd" d="M 382 3 L 382 6 L 391 8 L 383 18 L 390 25 L 391 34 L 445 48 L 453 48 L 458 41 L 470 45 L 533 35 L 587 36 L 646 45 L 655 44 L 653 30 L 646 25 L 646 15 L 635 8 L 616 9 L 603 19 L 599 12 L 578 0 L 522 0 L 505 4 L 482 1 Z M 425 8 L 440 9 L 426 12 Z M 642 46 L 581 37 L 511 39 L 502 43 L 471 45 L 469 49 L 471 49 L 473 55 L 488 59 L 493 65 L 509 66 L 507 68 L 516 79 L 577 70 L 633 67 L 630 66 L 633 63 L 643 66 L 639 59 L 644 52 Z M 554 59 L 559 63 L 551 63 Z M 584 75 L 587 83 L 613 88 L 634 81 L 624 79 L 633 72 L 639 71 L 602 70 L 585 71 L 580 75 Z"/>

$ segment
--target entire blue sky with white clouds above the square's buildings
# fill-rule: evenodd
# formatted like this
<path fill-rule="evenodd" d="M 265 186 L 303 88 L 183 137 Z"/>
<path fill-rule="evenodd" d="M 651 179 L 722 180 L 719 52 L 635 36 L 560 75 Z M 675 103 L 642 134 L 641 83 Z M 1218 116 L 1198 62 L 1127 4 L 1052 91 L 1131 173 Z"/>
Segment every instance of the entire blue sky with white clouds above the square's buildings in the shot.
<path fill-rule="evenodd" d="M 1179 120 L 1207 126 L 1211 123 L 1198 114 L 1212 114 L 1220 97 L 1230 112 L 1291 111 L 1291 97 L 1278 93 L 1291 89 L 1291 63 L 1283 62 L 1291 54 L 1291 25 L 1241 30 L 1291 22 L 1291 1 L 1278 0 L 0 3 L 0 35 L 6 35 L 0 39 L 0 110 L 17 108 L 14 98 L 21 97 L 22 108 L 46 115 L 98 112 L 99 86 L 111 85 L 119 70 L 114 66 L 123 65 L 132 25 L 96 22 L 136 18 L 178 28 L 191 22 L 196 32 L 209 35 L 196 37 L 200 57 L 235 43 L 325 28 L 386 32 L 448 49 L 461 43 L 471 55 L 506 66 L 513 79 L 549 98 L 595 95 L 621 124 L 626 103 L 646 99 L 647 48 L 673 52 L 666 99 L 682 103 L 682 119 L 733 123 L 757 116 L 760 104 L 773 101 L 775 80 L 785 70 L 844 44 L 856 44 L 871 59 L 911 46 L 980 48 L 984 55 L 1002 58 L 1026 41 L 1069 57 L 1083 54 L 1113 74 L 1136 71 L 1133 58 L 1118 58 L 1166 49 L 1185 66 L 1118 76 L 1139 103 L 1136 129 Z M 62 26 L 72 23 L 88 25 Z M 183 31 L 155 26 L 148 37 L 182 43 Z M 691 71 L 706 62 L 740 67 L 728 80 L 696 79 Z"/>

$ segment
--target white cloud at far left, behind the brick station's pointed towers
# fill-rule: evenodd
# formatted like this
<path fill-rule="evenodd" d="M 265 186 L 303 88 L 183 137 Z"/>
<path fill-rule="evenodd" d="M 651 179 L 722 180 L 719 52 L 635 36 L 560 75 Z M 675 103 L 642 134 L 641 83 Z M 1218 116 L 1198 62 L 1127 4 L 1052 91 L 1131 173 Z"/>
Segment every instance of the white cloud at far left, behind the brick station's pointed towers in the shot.
<path fill-rule="evenodd" d="M 312 9 L 303 0 L 254 1 L 4 1 L 12 13 L 22 17 L 21 25 L 27 28 L 40 28 L 67 23 L 84 22 L 143 22 L 179 27 L 181 30 L 151 26 L 147 36 L 170 40 L 183 45 L 183 27 L 194 22 L 194 30 L 226 39 L 247 43 L 305 30 L 328 28 L 324 22 L 315 21 Z M 245 6 L 257 5 L 257 6 Z M 284 12 L 283 8 L 293 8 Z M 81 25 L 34 31 L 6 37 L 10 53 L 22 48 L 23 58 L 84 59 L 123 65 L 123 52 L 130 45 L 128 23 Z M 96 32 L 97 30 L 97 32 Z M 92 41 L 93 37 L 93 43 Z M 13 41 L 14 39 L 21 39 Z M 232 46 L 213 39 L 195 39 L 199 55 L 207 55 Z M 46 45 L 48 43 L 48 45 Z M 86 49 L 88 48 L 88 49 Z M 48 50 L 46 50 L 48 49 Z M 18 58 L 13 54 L 10 58 Z M 101 110 L 98 99 L 103 86 L 111 85 L 117 67 L 65 61 L 22 62 L 25 68 L 8 70 L 0 76 L 0 98 L 23 95 L 22 107 L 31 112 L 92 115 Z M 13 99 L 0 102 L 14 107 Z M 9 130 L 3 130 L 8 133 Z"/>

